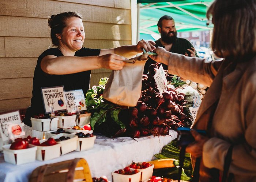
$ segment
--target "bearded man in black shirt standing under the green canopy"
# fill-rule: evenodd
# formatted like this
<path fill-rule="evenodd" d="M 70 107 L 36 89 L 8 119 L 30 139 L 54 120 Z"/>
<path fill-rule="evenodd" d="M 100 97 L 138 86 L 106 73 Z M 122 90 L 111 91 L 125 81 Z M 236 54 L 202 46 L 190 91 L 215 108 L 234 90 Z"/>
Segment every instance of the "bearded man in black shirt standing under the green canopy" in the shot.
<path fill-rule="evenodd" d="M 174 19 L 170 16 L 162 16 L 158 23 L 158 31 L 161 38 L 155 41 L 155 47 L 163 47 L 166 51 L 183 54 L 186 56 L 197 56 L 196 50 L 193 45 L 187 40 L 177 37 L 177 30 L 175 28 Z M 155 61 L 148 59 L 144 66 L 144 74 L 148 73 L 148 67 L 154 64 Z M 167 70 L 167 65 L 162 64 L 163 69 Z M 171 79 L 167 77 L 167 79 Z"/>

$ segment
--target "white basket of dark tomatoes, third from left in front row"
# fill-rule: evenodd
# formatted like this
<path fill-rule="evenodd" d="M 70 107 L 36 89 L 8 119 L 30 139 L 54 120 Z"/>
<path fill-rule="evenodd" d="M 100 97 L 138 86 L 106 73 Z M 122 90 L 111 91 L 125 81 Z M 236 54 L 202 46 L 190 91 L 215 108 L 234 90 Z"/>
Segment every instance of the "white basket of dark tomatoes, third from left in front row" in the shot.
<path fill-rule="evenodd" d="M 67 140 L 57 142 L 61 145 L 60 146 L 60 154 L 61 155 L 67 154 L 67 153 L 72 152 L 77 149 L 77 145 L 78 145 L 78 142 L 77 142 L 78 136 L 77 135 L 60 133 L 60 134 L 55 135 L 53 138 L 57 139 L 60 137 L 69 137 L 70 138 Z"/>

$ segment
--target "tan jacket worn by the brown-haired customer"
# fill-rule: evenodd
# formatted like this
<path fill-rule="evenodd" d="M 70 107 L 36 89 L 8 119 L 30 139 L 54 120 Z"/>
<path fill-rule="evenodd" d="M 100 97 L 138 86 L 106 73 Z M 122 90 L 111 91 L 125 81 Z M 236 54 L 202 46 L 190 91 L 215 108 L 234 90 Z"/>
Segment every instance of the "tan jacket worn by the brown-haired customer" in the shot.
<path fill-rule="evenodd" d="M 212 119 L 211 138 L 203 147 L 203 165 L 223 171 L 232 144 L 229 172 L 234 174 L 233 181 L 256 181 L 256 56 L 237 63 L 232 71 L 227 60 L 207 62 L 172 53 L 168 72 L 210 86 L 192 126 L 207 130 Z M 209 118 L 215 103 L 217 108 Z M 205 167 L 201 167 L 200 181 L 211 181 Z"/>

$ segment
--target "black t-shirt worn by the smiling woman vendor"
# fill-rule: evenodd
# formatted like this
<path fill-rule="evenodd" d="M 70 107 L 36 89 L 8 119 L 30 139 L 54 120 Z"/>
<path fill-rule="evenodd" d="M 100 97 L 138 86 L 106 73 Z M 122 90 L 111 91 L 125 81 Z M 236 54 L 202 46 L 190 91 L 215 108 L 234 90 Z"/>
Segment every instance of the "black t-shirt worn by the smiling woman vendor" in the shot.
<path fill-rule="evenodd" d="M 82 48 L 76 51 L 75 56 L 98 56 L 99 49 Z M 31 106 L 27 108 L 27 112 L 23 122 L 31 126 L 30 117 L 39 113 L 45 113 L 41 88 L 64 86 L 65 91 L 83 89 L 84 96 L 89 89 L 91 71 L 83 71 L 67 75 L 49 75 L 41 69 L 41 60 L 47 55 L 63 56 L 58 48 L 50 48 L 44 51 L 37 59 L 33 78 L 33 91 L 31 98 Z"/>

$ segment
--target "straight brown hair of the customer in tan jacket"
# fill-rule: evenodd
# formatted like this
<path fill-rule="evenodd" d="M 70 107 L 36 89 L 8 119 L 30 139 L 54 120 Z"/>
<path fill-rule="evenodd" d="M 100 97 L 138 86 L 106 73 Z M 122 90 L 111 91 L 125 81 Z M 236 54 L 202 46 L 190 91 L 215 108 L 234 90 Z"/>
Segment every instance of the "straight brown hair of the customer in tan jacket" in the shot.
<path fill-rule="evenodd" d="M 238 60 L 255 55 L 255 0 L 215 0 L 207 11 L 207 18 L 211 16 L 211 48 L 217 56 Z"/>

